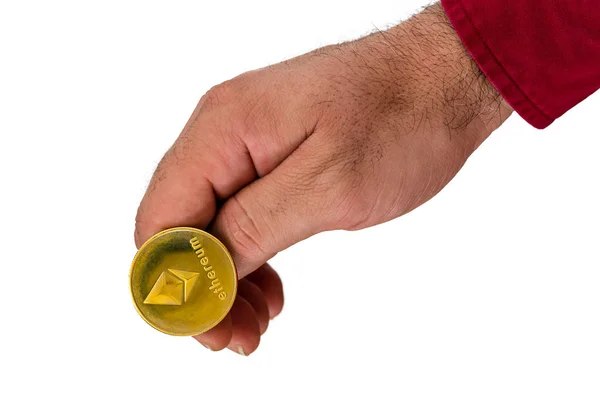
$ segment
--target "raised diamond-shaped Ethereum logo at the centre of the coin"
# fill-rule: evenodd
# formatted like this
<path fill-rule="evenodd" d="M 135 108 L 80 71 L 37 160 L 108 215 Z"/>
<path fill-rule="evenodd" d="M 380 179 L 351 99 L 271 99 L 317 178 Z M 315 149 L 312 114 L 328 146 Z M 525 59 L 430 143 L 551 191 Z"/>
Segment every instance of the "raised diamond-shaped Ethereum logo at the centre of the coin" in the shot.
<path fill-rule="evenodd" d="M 144 304 L 180 306 L 192 293 L 200 274 L 197 272 L 168 269 L 163 271 L 148 293 Z"/>

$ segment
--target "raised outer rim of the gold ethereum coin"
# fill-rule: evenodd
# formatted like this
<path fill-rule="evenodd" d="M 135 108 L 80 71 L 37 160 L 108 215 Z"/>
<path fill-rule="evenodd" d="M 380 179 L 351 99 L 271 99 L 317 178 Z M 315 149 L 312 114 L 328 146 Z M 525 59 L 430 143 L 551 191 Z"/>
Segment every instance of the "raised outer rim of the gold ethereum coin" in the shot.
<path fill-rule="evenodd" d="M 227 258 L 229 258 L 229 261 L 231 261 L 231 265 L 233 266 L 233 275 L 234 275 L 234 283 L 233 283 L 233 295 L 231 296 L 232 301 L 231 304 L 229 305 L 229 307 L 227 308 L 227 310 L 225 311 L 225 313 L 223 313 L 223 316 L 221 316 L 220 318 L 217 318 L 216 321 L 208 326 L 207 328 L 200 330 L 198 332 L 193 332 L 193 333 L 173 333 L 173 332 L 167 332 L 161 328 L 159 328 L 158 326 L 154 325 L 149 318 L 147 318 L 144 313 L 142 312 L 142 310 L 140 309 L 140 307 L 138 306 L 137 302 L 135 301 L 135 297 L 133 295 L 133 269 L 135 267 L 135 262 L 138 259 L 139 254 L 142 252 L 142 250 L 144 249 L 144 247 L 146 247 L 146 245 L 148 243 L 150 243 L 152 240 L 154 240 L 155 238 L 162 236 L 162 235 L 166 235 L 169 234 L 171 232 L 175 232 L 175 231 L 195 231 L 195 232 L 199 232 L 201 235 L 205 235 L 208 236 L 209 238 L 213 239 L 219 246 L 221 246 L 221 248 L 223 249 L 223 251 L 225 251 L 225 254 L 227 255 Z M 146 323 L 148 325 L 150 325 L 151 327 L 153 327 L 154 329 L 156 329 L 159 332 L 162 333 L 166 333 L 167 335 L 171 335 L 171 336 L 196 336 L 196 335 L 200 335 L 202 333 L 208 332 L 209 330 L 211 330 L 212 328 L 214 328 L 215 326 L 217 326 L 219 324 L 219 322 L 223 321 L 225 319 L 225 317 L 227 316 L 227 314 L 229 313 L 229 311 L 231 311 L 231 308 L 233 307 L 233 303 L 235 302 L 235 297 L 237 295 L 237 286 L 238 286 L 238 273 L 237 273 L 237 268 L 235 267 L 235 263 L 233 262 L 233 258 L 231 257 L 231 253 L 229 253 L 229 250 L 227 250 L 227 247 L 225 247 L 225 245 L 223 244 L 223 242 L 221 242 L 219 239 L 217 239 L 215 236 L 211 235 L 210 233 L 203 231 L 202 229 L 198 229 L 198 228 L 192 228 L 192 227 L 186 227 L 186 226 L 180 226 L 180 227 L 176 227 L 176 228 L 170 228 L 170 229 L 165 229 L 164 231 L 160 231 L 157 234 L 155 234 L 154 236 L 152 236 L 150 239 L 146 240 L 144 242 L 143 245 L 140 246 L 139 250 L 135 253 L 135 256 L 133 257 L 133 261 L 131 262 L 131 268 L 129 269 L 129 293 L 131 294 L 131 300 L 133 301 L 133 305 L 135 306 L 136 311 L 138 312 L 138 314 L 142 317 L 142 319 L 144 321 L 146 321 Z"/>

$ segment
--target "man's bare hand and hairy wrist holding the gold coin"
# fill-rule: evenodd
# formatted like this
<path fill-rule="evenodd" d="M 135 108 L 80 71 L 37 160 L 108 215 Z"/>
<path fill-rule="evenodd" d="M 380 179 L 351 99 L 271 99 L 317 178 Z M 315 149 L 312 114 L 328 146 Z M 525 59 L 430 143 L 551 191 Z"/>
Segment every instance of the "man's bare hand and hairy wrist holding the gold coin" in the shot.
<path fill-rule="evenodd" d="M 174 226 L 219 237 L 238 268 L 239 296 L 196 339 L 248 355 L 283 307 L 270 258 L 428 201 L 511 113 L 433 5 L 388 31 L 206 93 L 157 167 L 136 245 Z"/>

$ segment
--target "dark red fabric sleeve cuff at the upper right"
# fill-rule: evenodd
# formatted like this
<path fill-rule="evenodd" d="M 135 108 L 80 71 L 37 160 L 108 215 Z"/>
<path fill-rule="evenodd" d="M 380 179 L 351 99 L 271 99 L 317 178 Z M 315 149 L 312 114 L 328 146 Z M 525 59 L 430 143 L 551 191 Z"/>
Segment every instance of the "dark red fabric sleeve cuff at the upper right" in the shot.
<path fill-rule="evenodd" d="M 600 0 L 442 0 L 504 99 L 536 128 L 600 88 Z"/>

